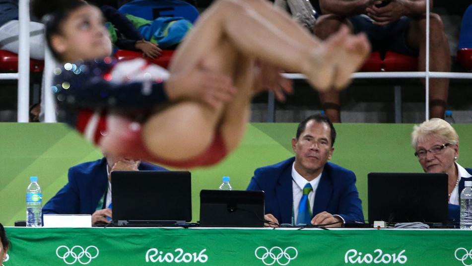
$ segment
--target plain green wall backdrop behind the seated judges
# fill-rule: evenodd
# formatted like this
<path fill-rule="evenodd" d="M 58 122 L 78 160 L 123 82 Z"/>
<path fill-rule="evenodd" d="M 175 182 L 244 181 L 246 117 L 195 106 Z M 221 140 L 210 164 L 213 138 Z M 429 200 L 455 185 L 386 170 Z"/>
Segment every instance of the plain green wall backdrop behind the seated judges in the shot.
<path fill-rule="evenodd" d="M 222 176 L 233 189 L 246 189 L 256 168 L 293 156 L 294 123 L 248 125 L 241 146 L 222 163 L 192 170 L 193 221 L 199 219 L 199 193 L 217 189 Z M 411 124 L 337 124 L 332 162 L 354 171 L 367 217 L 367 173 L 421 172 L 410 145 Z M 472 124 L 454 125 L 460 157 L 472 167 Z M 101 152 L 63 124 L 0 123 L 0 222 L 12 226 L 25 219 L 25 190 L 38 176 L 43 204 L 67 183 L 67 169 L 101 158 Z"/>

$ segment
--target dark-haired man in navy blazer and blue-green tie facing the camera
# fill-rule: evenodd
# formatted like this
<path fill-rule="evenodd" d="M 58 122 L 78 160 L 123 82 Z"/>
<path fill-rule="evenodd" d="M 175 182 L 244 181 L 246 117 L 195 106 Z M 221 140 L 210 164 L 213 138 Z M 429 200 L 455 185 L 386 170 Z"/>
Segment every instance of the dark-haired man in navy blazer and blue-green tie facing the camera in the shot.
<path fill-rule="evenodd" d="M 292 139 L 295 157 L 256 169 L 247 190 L 265 192 L 265 219 L 272 225 L 340 227 L 364 222 L 354 173 L 328 162 L 335 139 L 336 130 L 326 116 L 310 116 L 298 125 Z M 310 191 L 307 196 L 305 189 Z M 300 212 L 306 201 L 310 215 Z"/>

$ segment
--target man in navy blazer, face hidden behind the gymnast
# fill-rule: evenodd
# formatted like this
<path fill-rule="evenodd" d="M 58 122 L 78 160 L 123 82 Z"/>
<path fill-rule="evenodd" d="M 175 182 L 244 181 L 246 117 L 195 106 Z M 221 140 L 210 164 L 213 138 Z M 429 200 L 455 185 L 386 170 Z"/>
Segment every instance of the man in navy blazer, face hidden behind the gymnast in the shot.
<path fill-rule="evenodd" d="M 91 214 L 92 224 L 109 223 L 112 217 L 112 171 L 167 171 L 140 160 L 105 157 L 69 168 L 68 183 L 43 207 L 43 214 Z"/>

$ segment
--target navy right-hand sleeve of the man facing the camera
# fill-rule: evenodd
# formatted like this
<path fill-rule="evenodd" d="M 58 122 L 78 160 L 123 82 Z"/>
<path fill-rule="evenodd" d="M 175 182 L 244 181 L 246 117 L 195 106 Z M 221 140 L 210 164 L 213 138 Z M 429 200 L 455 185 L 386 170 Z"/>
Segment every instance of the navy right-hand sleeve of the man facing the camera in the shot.
<path fill-rule="evenodd" d="M 339 213 L 336 214 L 341 216 L 346 223 L 364 222 L 362 202 L 355 186 L 356 176 L 353 172 L 350 172 L 348 181 L 349 184 L 346 184 L 340 197 Z"/>

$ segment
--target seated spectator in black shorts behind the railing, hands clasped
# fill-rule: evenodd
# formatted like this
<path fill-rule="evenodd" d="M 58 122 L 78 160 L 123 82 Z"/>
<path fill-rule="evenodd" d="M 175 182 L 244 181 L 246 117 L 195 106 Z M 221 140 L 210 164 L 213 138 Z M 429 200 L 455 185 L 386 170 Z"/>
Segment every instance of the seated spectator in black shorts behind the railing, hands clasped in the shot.
<path fill-rule="evenodd" d="M 432 1 L 431 1 L 432 2 Z M 425 0 L 320 0 L 323 13 L 316 21 L 314 34 L 327 39 L 345 24 L 351 32 L 364 32 L 372 51 L 381 56 L 392 51 L 418 58 L 418 70 L 425 70 Z M 449 43 L 441 17 L 430 13 L 430 71 L 449 72 Z M 449 79 L 430 81 L 430 117 L 444 118 Z M 321 92 L 322 107 L 333 122 L 340 121 L 339 92 Z"/>

